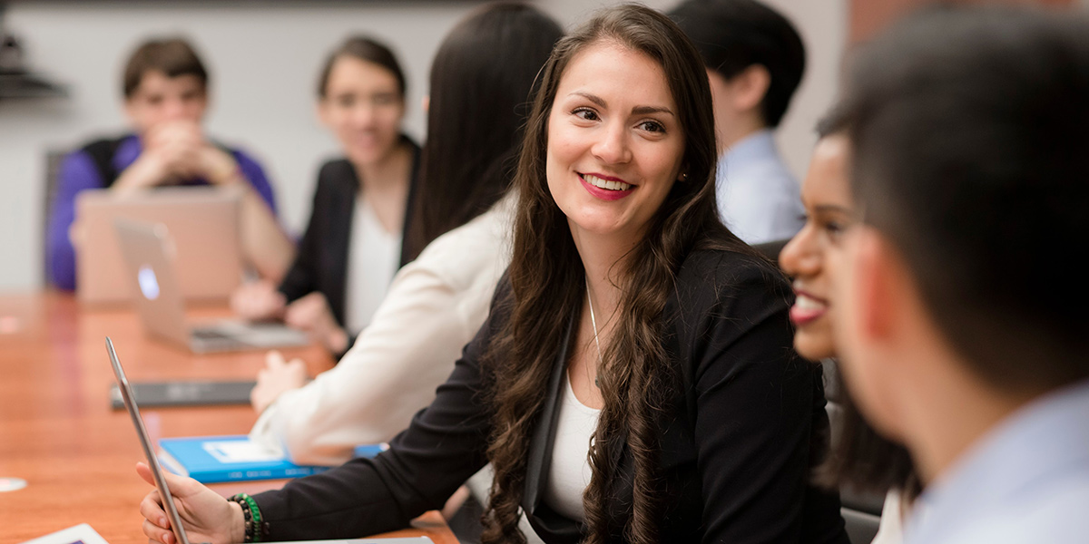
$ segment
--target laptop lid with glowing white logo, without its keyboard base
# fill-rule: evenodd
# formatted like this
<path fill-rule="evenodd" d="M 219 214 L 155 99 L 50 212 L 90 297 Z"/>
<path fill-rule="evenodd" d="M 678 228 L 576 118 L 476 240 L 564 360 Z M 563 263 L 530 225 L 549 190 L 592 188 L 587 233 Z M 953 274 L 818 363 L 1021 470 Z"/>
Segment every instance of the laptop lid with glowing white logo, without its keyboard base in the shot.
<path fill-rule="evenodd" d="M 124 256 L 127 283 L 144 330 L 181 346 L 189 345 L 174 244 L 162 223 L 118 219 L 114 227 Z"/>

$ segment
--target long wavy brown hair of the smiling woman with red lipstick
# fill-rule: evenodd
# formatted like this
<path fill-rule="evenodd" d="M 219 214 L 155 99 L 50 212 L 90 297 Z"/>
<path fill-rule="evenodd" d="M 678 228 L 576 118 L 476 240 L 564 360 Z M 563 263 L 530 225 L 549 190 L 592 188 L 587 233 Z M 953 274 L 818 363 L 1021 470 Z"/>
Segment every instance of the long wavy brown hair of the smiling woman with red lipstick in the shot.
<path fill-rule="evenodd" d="M 699 53 L 676 25 L 651 9 L 627 4 L 600 12 L 561 39 L 542 71 L 526 128 L 514 181 L 519 197 L 509 269 L 512 289 L 501 301 L 509 319 L 486 358 L 494 380 L 488 457 L 495 477 L 485 512 L 485 544 L 525 542 L 517 526 L 529 444 L 565 330 L 579 319 L 583 308 L 583 262 L 567 220 L 549 193 L 544 162 L 548 119 L 564 69 L 578 52 L 599 42 L 638 51 L 662 67 L 684 132 L 682 171 L 687 178 L 674 183 L 646 237 L 626 256 L 621 270 L 616 333 L 599 369 L 604 407 L 589 454 L 594 477 L 583 497 L 586 542 L 659 541 L 663 505 L 658 492 L 657 418 L 674 391 L 675 375 L 662 345 L 665 301 L 675 288 L 684 257 L 693 249 L 713 246 L 748 251 L 718 219 L 714 120 L 707 73 Z M 634 494 L 624 526 L 614 527 L 605 505 L 617 484 L 612 459 L 624 447 L 634 460 Z"/>

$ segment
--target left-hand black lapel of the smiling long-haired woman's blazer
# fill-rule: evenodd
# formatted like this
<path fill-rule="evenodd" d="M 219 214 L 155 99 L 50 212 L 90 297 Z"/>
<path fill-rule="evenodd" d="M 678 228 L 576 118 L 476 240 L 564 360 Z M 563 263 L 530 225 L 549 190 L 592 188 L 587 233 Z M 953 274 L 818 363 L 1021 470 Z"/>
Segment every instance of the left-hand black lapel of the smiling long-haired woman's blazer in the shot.
<path fill-rule="evenodd" d="M 534 430 L 529 443 L 529 460 L 526 462 L 526 489 L 522 495 L 522 509 L 533 515 L 540 503 L 548 484 L 549 468 L 552 466 L 552 443 L 555 441 L 555 425 L 560 417 L 560 387 L 567 370 L 567 349 L 574 320 L 567 322 L 563 333 L 563 344 L 552 363 L 552 374 L 548 382 L 548 398 L 541 409 L 540 424 Z"/>

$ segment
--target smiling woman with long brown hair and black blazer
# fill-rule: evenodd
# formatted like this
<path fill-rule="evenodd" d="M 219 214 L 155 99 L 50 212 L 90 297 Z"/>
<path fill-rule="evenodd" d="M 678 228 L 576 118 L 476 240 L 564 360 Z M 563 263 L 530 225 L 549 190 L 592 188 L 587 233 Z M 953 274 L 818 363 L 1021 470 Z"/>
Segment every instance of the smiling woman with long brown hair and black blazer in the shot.
<path fill-rule="evenodd" d="M 228 500 L 170 477 L 189 537 L 388 531 L 490 461 L 485 543 L 525 542 L 523 512 L 548 543 L 846 542 L 839 498 L 808 484 L 820 369 L 791 348 L 785 279 L 718 219 L 712 120 L 702 63 L 662 14 L 611 8 L 561 39 L 511 265 L 436 400 L 376 459 L 280 491 Z M 175 542 L 157 492 L 140 512 Z"/>

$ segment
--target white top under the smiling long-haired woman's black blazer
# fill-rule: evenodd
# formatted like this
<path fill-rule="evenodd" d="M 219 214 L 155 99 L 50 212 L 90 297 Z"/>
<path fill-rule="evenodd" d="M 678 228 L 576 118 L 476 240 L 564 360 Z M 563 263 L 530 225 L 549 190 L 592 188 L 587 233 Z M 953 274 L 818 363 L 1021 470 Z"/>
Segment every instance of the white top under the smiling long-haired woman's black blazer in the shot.
<path fill-rule="evenodd" d="M 564 372 L 564 393 L 552 443 L 552 466 L 544 487 L 544 502 L 568 519 L 583 521 L 583 493 L 590 484 L 590 436 L 598 428 L 601 410 L 578 401 Z"/>

